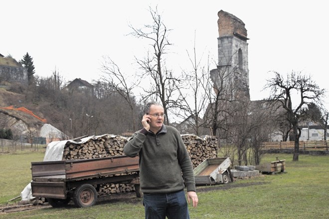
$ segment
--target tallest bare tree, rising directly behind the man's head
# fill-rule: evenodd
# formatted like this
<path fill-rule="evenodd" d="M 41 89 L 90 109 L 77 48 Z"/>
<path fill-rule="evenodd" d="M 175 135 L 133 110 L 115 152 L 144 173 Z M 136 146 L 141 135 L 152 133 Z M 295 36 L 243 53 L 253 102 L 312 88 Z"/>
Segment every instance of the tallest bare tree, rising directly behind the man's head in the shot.
<path fill-rule="evenodd" d="M 149 87 L 143 87 L 146 95 L 143 96 L 142 101 L 145 100 L 160 100 L 165 114 L 173 105 L 173 97 L 176 93 L 176 87 L 180 84 L 181 79 L 173 76 L 172 72 L 165 66 L 165 54 L 167 48 L 171 45 L 167 39 L 168 32 L 162 16 L 150 7 L 152 16 L 152 24 L 144 25 L 143 28 L 135 28 L 132 25 L 133 36 L 143 38 L 151 42 L 152 50 L 148 52 L 144 59 L 137 59 L 137 63 L 142 69 L 142 78 L 147 78 L 151 82 Z M 144 84 L 145 85 L 145 84 Z M 168 116 L 165 119 L 168 124 Z"/>

